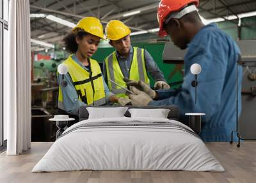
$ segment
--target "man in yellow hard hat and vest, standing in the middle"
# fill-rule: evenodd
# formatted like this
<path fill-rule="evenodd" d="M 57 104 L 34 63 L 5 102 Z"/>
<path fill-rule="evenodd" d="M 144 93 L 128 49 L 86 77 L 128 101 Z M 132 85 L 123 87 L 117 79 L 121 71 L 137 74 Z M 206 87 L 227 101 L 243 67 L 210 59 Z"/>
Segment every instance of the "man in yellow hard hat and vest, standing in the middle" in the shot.
<path fill-rule="evenodd" d="M 104 60 L 103 64 L 103 74 L 111 92 L 118 97 L 125 97 L 125 90 L 111 83 L 110 80 L 125 88 L 127 86 L 124 78 L 140 80 L 149 84 L 148 72 L 155 81 L 155 88 L 170 88 L 152 56 L 145 49 L 131 46 L 131 30 L 123 22 L 120 20 L 109 21 L 105 32 L 109 44 L 116 49 Z"/>

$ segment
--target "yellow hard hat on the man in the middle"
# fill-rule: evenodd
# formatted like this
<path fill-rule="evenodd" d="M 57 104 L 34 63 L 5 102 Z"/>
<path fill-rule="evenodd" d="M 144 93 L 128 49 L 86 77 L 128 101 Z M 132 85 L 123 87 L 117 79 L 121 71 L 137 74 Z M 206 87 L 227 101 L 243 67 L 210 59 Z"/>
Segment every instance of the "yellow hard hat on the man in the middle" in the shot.
<path fill-rule="evenodd" d="M 105 33 L 109 40 L 120 40 L 131 33 L 131 30 L 119 20 L 111 20 L 108 22 Z"/>

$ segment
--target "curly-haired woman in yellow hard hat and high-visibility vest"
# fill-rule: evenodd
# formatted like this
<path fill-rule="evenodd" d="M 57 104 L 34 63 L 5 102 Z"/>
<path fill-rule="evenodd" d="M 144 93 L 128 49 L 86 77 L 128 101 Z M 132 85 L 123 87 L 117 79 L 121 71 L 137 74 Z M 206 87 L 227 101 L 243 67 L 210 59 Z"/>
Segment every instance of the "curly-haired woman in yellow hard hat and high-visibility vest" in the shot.
<path fill-rule="evenodd" d="M 63 40 L 71 54 L 63 62 L 68 67 L 68 73 L 65 76 L 58 73 L 58 107 L 71 115 L 77 115 L 79 106 L 101 106 L 106 102 L 125 105 L 129 102 L 109 92 L 99 63 L 91 58 L 102 38 L 104 33 L 100 20 L 86 17 Z M 62 77 L 67 84 L 62 84 Z"/>

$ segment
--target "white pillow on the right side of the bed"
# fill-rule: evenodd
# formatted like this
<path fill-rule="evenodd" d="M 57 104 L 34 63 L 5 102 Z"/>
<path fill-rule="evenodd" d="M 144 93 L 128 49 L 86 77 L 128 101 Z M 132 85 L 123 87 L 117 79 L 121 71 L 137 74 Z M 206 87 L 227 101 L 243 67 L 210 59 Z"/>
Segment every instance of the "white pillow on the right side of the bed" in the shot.
<path fill-rule="evenodd" d="M 131 113 L 131 118 L 167 118 L 170 109 L 128 109 Z"/>

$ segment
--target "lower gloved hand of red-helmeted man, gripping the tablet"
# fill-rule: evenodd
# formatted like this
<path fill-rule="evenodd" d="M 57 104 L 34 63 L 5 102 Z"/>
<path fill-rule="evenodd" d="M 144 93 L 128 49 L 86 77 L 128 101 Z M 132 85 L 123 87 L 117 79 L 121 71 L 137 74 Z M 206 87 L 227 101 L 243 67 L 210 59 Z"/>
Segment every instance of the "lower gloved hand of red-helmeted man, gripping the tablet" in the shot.
<path fill-rule="evenodd" d="M 134 94 L 127 92 L 126 95 L 132 100 L 132 106 L 147 106 L 152 101 L 152 98 L 147 93 L 141 92 L 134 86 L 131 86 L 130 90 Z"/>

